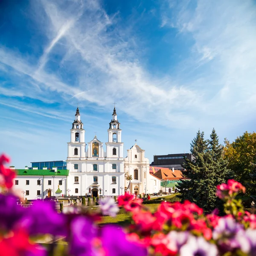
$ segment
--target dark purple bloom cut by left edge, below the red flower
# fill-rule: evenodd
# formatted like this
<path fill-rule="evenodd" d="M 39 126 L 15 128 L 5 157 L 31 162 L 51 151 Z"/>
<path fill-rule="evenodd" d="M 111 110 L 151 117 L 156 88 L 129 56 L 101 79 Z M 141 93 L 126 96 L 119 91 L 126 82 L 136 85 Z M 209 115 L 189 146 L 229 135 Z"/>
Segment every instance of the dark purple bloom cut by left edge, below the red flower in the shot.
<path fill-rule="evenodd" d="M 0 230 L 12 229 L 23 217 L 24 209 L 17 205 L 17 201 L 13 195 L 0 194 Z"/>

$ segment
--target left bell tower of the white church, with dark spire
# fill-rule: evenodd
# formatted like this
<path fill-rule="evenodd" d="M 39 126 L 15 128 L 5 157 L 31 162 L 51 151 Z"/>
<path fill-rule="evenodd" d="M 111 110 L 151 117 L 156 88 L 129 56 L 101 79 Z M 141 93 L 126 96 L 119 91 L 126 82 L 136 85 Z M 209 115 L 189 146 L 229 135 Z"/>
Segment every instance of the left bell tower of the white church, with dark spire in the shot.
<path fill-rule="evenodd" d="M 81 122 L 79 108 L 76 109 L 75 120 L 70 129 L 67 160 L 80 160 L 85 157 L 84 124 Z"/>

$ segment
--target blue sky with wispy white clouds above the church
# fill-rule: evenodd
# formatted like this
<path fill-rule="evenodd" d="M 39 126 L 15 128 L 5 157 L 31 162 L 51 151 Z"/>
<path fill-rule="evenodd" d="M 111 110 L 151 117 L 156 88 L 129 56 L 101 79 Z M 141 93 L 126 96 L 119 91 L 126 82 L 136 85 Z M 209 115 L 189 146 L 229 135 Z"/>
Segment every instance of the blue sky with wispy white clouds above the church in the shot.
<path fill-rule="evenodd" d="M 189 152 L 256 127 L 256 2 L 0 0 L 0 152 L 16 168 L 66 160 L 79 105 L 85 140 Z M 126 153 L 124 153 L 126 157 Z"/>

